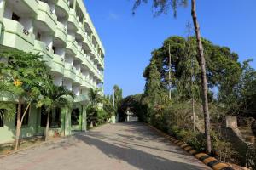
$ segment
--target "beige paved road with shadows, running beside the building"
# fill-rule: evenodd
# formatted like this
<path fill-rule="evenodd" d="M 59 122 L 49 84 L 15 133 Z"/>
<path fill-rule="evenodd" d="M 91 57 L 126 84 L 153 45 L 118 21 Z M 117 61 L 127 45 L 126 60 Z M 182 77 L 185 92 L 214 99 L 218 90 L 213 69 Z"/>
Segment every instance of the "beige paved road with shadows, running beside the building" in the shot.
<path fill-rule="evenodd" d="M 139 122 L 88 133 L 0 158 L 1 170 L 209 169 Z"/>

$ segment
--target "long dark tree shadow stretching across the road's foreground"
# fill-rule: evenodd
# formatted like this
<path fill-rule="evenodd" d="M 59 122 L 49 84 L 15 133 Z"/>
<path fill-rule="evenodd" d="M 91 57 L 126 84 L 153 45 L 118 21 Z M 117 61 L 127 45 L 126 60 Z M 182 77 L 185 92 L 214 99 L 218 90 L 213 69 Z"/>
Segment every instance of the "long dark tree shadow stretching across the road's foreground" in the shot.
<path fill-rule="evenodd" d="M 101 139 L 97 139 L 97 137 L 90 136 L 90 134 L 80 134 L 76 135 L 75 137 L 80 141 L 83 141 L 85 144 L 95 146 L 109 158 L 125 161 L 131 166 L 137 167 L 137 169 L 206 169 L 206 167 L 203 167 L 203 165 L 195 165 L 193 164 L 193 161 L 190 160 L 186 163 L 168 160 L 164 157 L 155 156 L 142 150 L 136 150 L 124 144 L 110 144 L 110 142 L 102 141 Z"/>

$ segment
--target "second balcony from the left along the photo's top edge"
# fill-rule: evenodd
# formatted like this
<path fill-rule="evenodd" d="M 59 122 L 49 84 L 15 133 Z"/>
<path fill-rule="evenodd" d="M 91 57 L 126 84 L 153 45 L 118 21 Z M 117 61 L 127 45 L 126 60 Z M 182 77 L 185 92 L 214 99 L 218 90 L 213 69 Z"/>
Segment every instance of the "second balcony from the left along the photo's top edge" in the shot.
<path fill-rule="evenodd" d="M 54 35 L 57 26 L 57 16 L 53 14 L 47 3 L 42 1 L 38 1 L 38 3 L 38 15 L 34 24 L 38 30 Z"/>

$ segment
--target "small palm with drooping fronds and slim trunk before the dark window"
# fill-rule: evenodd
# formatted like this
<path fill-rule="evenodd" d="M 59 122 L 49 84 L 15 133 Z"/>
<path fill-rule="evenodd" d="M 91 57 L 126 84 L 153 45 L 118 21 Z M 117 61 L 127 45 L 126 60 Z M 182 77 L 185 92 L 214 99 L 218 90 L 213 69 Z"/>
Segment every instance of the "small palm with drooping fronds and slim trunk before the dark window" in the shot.
<path fill-rule="evenodd" d="M 74 99 L 75 94 L 64 87 L 56 86 L 53 82 L 47 83 L 46 87 L 42 89 L 42 99 L 38 101 L 37 107 L 45 107 L 47 113 L 47 122 L 45 127 L 45 140 L 49 136 L 49 115 L 50 111 L 61 107 L 71 107 L 72 102 L 68 99 L 71 96 Z"/>

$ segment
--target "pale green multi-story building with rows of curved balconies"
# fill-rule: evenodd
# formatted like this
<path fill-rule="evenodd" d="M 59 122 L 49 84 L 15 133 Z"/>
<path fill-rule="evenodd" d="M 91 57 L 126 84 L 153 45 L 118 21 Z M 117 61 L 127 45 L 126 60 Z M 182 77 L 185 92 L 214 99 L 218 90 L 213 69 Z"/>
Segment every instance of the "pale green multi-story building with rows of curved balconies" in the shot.
<path fill-rule="evenodd" d="M 0 28 L 0 48 L 42 54 L 55 84 L 76 94 L 73 111 L 52 112 L 50 133 L 85 130 L 88 91 L 102 87 L 105 52 L 83 0 L 0 0 Z M 44 133 L 43 112 L 31 106 L 22 137 Z M 0 144 L 14 136 L 15 117 L 1 118 Z"/>

